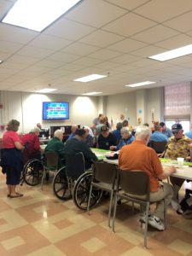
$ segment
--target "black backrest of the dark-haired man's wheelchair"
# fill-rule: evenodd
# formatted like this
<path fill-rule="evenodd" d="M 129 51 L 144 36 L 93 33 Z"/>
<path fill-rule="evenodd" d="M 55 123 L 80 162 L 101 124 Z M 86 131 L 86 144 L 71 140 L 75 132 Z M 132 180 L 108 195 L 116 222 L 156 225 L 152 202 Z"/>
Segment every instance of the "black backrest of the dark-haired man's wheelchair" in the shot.
<path fill-rule="evenodd" d="M 65 154 L 67 176 L 77 179 L 85 171 L 84 154 L 79 152 L 77 154 Z"/>

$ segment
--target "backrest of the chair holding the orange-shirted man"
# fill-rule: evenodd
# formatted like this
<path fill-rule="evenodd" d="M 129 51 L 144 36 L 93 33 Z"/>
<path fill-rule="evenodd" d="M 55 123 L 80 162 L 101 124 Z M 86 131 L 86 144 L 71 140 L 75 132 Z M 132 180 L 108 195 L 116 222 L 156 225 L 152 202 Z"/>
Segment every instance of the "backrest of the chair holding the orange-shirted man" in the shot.
<path fill-rule="evenodd" d="M 120 170 L 119 187 L 131 197 L 141 197 L 143 201 L 149 201 L 150 180 L 146 172 L 140 170 Z"/>

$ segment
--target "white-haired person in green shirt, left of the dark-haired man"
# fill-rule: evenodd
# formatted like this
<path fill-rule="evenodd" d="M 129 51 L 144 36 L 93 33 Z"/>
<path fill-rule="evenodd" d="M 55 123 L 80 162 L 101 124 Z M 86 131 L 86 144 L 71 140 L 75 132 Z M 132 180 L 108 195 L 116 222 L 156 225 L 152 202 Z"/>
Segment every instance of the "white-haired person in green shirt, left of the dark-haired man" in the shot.
<path fill-rule="evenodd" d="M 55 152 L 58 155 L 58 167 L 60 168 L 64 163 L 64 143 L 62 143 L 63 131 L 56 130 L 54 132 L 54 137 L 49 141 L 44 152 Z"/>

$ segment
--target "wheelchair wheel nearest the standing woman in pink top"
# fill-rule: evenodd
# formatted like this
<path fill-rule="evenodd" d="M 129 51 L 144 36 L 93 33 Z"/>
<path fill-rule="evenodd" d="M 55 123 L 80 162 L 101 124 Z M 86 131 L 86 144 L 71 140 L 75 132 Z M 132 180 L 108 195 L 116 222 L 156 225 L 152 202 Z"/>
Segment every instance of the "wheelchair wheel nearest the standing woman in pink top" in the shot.
<path fill-rule="evenodd" d="M 29 186 L 36 186 L 41 182 L 44 166 L 38 159 L 28 160 L 23 170 L 23 179 Z"/>

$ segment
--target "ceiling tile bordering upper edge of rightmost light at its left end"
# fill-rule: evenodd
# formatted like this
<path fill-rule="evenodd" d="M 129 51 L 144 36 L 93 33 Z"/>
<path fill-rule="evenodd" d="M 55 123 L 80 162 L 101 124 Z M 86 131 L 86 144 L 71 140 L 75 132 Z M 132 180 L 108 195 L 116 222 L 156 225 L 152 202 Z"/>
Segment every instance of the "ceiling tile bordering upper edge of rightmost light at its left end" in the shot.
<path fill-rule="evenodd" d="M 161 52 L 166 51 L 166 49 L 154 46 L 154 45 L 150 45 L 147 47 L 144 47 L 142 49 L 137 49 L 131 52 L 132 55 L 137 55 L 137 56 L 141 56 L 143 58 L 148 58 L 148 56 L 151 55 L 158 55 Z"/>

